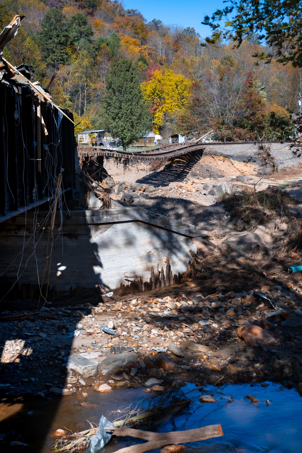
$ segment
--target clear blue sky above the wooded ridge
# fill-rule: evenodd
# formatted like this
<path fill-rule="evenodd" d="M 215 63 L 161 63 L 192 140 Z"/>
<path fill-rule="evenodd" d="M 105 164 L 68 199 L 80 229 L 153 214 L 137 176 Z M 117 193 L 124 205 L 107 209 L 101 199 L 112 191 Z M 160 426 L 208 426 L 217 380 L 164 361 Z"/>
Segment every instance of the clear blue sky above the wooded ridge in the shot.
<path fill-rule="evenodd" d="M 223 0 L 124 0 L 126 9 L 139 10 L 148 22 L 155 18 L 166 25 L 194 27 L 202 38 L 211 34 L 210 27 L 201 25 L 205 14 L 211 17 L 217 8 L 226 5 Z"/>

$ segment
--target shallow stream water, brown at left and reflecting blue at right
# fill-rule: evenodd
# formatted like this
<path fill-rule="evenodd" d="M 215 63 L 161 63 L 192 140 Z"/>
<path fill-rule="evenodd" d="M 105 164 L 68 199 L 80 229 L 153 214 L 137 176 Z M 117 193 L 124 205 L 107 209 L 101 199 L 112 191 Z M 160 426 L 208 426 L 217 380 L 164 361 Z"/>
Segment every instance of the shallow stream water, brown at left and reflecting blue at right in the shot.
<path fill-rule="evenodd" d="M 192 405 L 173 419 L 149 429 L 167 432 L 221 424 L 224 436 L 187 443 L 183 453 L 302 453 L 302 397 L 295 389 L 268 384 L 268 387 L 260 384 L 206 386 L 203 392 L 187 384 L 182 391 L 190 392 L 187 397 L 192 400 Z M 112 411 L 152 395 L 142 389 L 116 389 L 101 394 L 88 387 L 85 391 L 88 394 L 86 398 L 74 395 L 48 400 L 29 396 L 2 402 L 1 433 L 14 431 L 15 436 L 20 435 L 28 444 L 26 451 L 46 453 L 55 443 L 51 434 L 56 429 L 81 431 L 89 428 L 86 420 L 97 424 L 101 415 L 114 421 L 119 413 Z M 217 402 L 200 403 L 202 393 L 214 395 Z M 259 408 L 251 405 L 246 395 L 254 395 L 259 400 Z M 266 400 L 269 400 L 269 405 L 266 405 Z M 53 419 L 51 423 L 50 419 Z M 49 434 L 43 441 L 45 430 L 49 430 Z M 103 453 L 112 453 L 137 442 L 131 438 L 112 439 Z"/>

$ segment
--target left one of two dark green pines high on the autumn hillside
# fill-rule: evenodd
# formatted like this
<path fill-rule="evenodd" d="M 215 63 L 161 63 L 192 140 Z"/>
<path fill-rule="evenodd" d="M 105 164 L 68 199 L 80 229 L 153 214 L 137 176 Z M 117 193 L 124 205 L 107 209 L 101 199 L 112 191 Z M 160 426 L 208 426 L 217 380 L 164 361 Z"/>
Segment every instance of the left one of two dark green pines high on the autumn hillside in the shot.
<path fill-rule="evenodd" d="M 66 64 L 70 55 L 67 52 L 67 24 L 67 17 L 58 8 L 48 10 L 41 22 L 39 42 L 45 61 L 57 68 Z"/>

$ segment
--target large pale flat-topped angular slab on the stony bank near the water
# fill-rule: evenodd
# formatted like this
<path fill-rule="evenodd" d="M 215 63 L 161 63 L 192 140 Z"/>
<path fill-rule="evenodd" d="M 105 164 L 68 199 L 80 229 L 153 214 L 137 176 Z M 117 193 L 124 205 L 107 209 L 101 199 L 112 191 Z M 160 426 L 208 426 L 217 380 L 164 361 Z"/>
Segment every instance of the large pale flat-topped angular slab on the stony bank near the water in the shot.
<path fill-rule="evenodd" d="M 125 352 L 124 354 L 110 354 L 102 356 L 98 352 L 83 352 L 68 357 L 67 364 L 64 365 L 67 373 L 75 372 L 87 379 L 98 374 L 106 374 L 129 363 L 138 360 L 135 352 Z"/>

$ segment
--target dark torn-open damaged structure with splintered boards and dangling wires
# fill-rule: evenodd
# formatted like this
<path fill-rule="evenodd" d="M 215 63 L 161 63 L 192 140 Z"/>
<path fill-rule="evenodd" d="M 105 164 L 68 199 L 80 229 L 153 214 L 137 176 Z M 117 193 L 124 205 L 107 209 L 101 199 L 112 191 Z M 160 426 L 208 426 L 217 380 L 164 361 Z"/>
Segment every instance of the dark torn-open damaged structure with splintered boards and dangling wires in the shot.
<path fill-rule="evenodd" d="M 0 34 L 0 52 L 19 22 L 15 16 Z M 62 192 L 75 198 L 72 113 L 56 106 L 33 77 L 32 67 L 15 68 L 1 56 L 0 222 L 49 202 L 61 168 Z"/>

